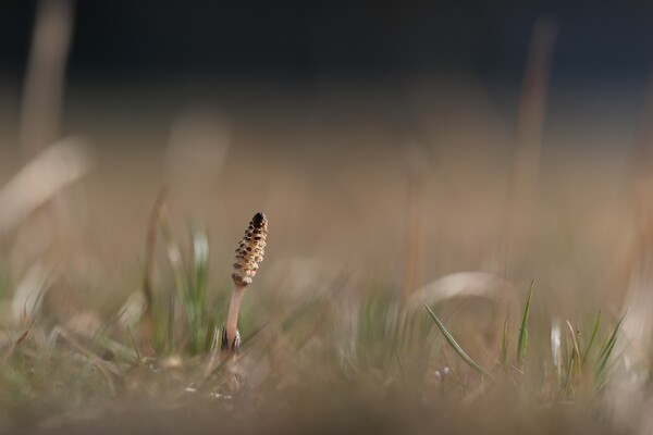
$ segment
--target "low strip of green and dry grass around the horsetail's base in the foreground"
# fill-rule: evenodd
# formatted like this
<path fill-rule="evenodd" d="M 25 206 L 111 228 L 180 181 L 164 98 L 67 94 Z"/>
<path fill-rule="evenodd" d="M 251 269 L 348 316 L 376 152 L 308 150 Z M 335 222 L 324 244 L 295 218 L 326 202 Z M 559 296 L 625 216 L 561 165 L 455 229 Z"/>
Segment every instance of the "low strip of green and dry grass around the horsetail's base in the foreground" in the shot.
<path fill-rule="evenodd" d="M 164 226 L 170 251 L 177 240 L 168 232 Z M 491 349 L 480 343 L 482 332 L 472 328 L 461 337 L 464 350 L 431 308 L 410 309 L 398 288 L 369 285 L 344 295 L 334 285 L 280 313 L 250 306 L 241 325 L 244 348 L 236 373 L 242 387 L 233 390 L 210 346 L 224 319 L 227 291 L 208 290 L 214 287 L 208 281 L 206 233 L 192 232 L 190 243 L 188 259 L 173 256 L 175 261 L 158 264 L 171 268 L 172 277 L 155 288 L 155 334 L 146 341 L 138 338 L 141 324 L 125 328 L 114 318 L 93 335 L 46 319 L 13 328 L 0 362 L 4 427 L 110 432 L 143 427 L 126 415 L 173 412 L 180 420 L 160 430 L 612 431 L 597 417 L 597 399 L 619 364 L 614 349 L 623 319 L 607 326 L 599 318 L 588 320 L 593 328 L 586 347 L 569 323 L 569 335 L 565 327 L 557 332 L 555 349 L 545 334 L 527 333 L 551 327 L 546 316 L 529 318 L 539 295 L 532 285 L 519 328 L 506 332 L 517 337 L 516 358 L 507 365 L 502 359 L 509 338 Z M 256 282 L 250 287 L 247 291 L 257 291 Z M 448 324 L 470 321 L 473 315 L 456 312 L 447 319 Z M 606 338 L 599 344 L 594 338 L 601 334 Z M 535 361 L 533 350 L 549 358 Z M 559 366 L 552 358 L 556 352 Z"/>

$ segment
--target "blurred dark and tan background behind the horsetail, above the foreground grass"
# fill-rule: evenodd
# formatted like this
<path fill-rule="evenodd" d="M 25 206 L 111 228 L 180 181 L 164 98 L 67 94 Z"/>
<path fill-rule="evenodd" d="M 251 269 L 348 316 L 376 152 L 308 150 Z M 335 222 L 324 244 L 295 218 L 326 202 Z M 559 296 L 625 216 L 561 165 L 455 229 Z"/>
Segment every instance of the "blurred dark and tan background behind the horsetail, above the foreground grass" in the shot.
<path fill-rule="evenodd" d="M 481 271 L 619 307 L 652 60 L 648 2 L 3 0 L 3 279 L 124 300 L 168 186 L 215 286 L 262 210 L 270 291 Z"/>

